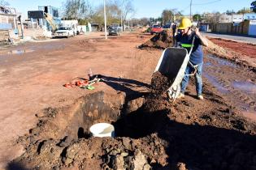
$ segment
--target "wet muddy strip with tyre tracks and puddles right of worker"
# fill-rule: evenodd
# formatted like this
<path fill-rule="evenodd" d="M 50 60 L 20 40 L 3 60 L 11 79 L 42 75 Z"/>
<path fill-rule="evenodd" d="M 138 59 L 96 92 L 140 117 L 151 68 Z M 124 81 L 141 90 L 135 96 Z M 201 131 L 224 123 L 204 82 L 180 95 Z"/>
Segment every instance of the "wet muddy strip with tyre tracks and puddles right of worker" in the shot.
<path fill-rule="evenodd" d="M 208 55 L 203 76 L 223 94 L 224 98 L 241 109 L 245 116 L 256 120 L 256 74 L 252 70 L 226 59 Z"/>

